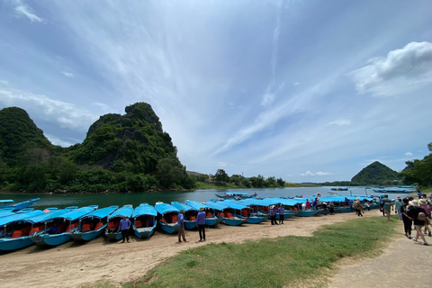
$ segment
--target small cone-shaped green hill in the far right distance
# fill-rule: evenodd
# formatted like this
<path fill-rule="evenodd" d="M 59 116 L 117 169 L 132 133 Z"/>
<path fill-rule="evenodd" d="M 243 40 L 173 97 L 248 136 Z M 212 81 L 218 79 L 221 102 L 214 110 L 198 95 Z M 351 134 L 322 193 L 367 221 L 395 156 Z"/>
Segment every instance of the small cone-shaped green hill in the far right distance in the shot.
<path fill-rule="evenodd" d="M 351 182 L 353 184 L 392 184 L 393 180 L 398 179 L 398 173 L 388 166 L 375 161 L 369 166 L 362 169 L 355 175 Z"/>

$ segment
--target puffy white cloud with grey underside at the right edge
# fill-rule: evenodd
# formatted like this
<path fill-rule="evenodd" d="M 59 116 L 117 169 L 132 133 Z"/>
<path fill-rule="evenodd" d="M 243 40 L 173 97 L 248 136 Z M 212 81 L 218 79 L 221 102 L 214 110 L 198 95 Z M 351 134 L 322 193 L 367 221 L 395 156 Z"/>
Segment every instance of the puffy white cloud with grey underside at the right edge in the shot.
<path fill-rule="evenodd" d="M 432 83 L 432 43 L 410 42 L 350 73 L 359 93 L 390 96 Z"/>

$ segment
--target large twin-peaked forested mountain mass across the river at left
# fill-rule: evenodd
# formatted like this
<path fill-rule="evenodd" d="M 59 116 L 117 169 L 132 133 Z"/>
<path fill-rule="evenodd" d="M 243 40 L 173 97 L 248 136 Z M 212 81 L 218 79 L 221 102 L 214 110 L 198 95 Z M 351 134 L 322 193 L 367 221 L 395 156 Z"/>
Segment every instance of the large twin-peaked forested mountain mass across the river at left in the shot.
<path fill-rule="evenodd" d="M 168 133 L 148 103 L 106 114 L 85 140 L 53 146 L 20 108 L 0 111 L 0 188 L 35 192 L 102 192 L 190 189 Z"/>

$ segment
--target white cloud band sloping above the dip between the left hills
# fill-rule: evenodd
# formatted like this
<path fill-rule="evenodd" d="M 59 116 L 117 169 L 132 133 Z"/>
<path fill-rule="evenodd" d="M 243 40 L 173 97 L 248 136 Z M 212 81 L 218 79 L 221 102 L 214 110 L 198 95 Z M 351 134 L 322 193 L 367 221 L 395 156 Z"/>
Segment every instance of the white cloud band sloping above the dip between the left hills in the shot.
<path fill-rule="evenodd" d="M 0 85 L 0 103 L 23 108 L 44 121 L 57 122 L 62 128 L 87 130 L 98 118 L 74 103 L 53 100 L 44 94 L 32 94 L 9 85 Z"/>

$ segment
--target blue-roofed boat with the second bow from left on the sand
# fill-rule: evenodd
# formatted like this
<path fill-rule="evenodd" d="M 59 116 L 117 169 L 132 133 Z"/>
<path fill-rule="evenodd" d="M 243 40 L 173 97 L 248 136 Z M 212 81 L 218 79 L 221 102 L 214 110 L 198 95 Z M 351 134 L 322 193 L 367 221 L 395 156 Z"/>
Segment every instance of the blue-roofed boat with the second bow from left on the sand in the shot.
<path fill-rule="evenodd" d="M 58 246 L 72 239 L 71 232 L 78 228 L 79 219 L 97 209 L 96 205 L 81 207 L 52 218 L 53 226 L 58 226 L 58 234 L 49 234 L 49 230 L 31 236 L 34 244 L 39 246 Z"/>

